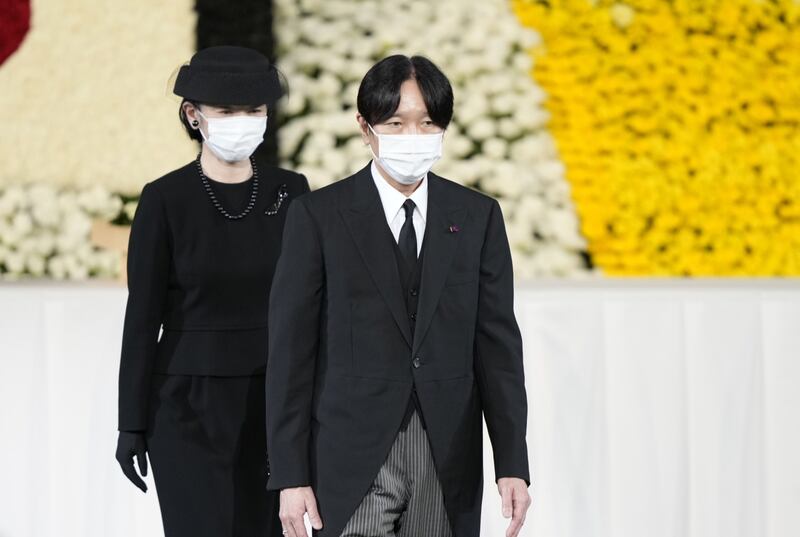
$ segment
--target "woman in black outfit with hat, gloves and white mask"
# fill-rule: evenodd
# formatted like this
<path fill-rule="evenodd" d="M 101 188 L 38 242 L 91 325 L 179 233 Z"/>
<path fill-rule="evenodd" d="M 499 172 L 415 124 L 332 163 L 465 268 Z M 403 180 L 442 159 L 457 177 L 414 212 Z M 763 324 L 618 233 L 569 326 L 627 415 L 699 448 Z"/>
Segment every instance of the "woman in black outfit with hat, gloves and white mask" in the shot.
<path fill-rule="evenodd" d="M 264 420 L 267 306 L 302 175 L 252 156 L 282 95 L 260 53 L 211 47 L 181 68 L 194 162 L 142 189 L 128 249 L 117 460 L 153 466 L 167 537 L 280 535 Z M 163 332 L 159 338 L 159 329 Z"/>

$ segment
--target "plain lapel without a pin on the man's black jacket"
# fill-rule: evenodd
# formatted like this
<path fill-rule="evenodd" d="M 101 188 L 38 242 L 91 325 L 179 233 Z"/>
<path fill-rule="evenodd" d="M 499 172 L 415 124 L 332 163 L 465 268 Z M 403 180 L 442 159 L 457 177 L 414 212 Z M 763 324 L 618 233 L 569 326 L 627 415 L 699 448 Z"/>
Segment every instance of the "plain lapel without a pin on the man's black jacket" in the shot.
<path fill-rule="evenodd" d="M 386 214 L 372 180 L 370 166 L 359 171 L 354 179 L 353 203 L 340 209 L 340 212 L 364 264 L 410 347 L 411 328 L 391 242 L 394 237 L 386 223 Z"/>

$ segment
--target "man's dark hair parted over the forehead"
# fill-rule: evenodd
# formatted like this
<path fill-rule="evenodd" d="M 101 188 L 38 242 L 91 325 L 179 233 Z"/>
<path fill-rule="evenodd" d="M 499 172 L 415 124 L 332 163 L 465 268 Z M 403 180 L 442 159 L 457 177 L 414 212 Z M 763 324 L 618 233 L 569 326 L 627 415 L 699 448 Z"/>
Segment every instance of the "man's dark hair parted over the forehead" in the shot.
<path fill-rule="evenodd" d="M 411 79 L 419 85 L 431 121 L 446 129 L 453 119 L 453 87 L 424 56 L 396 54 L 373 65 L 358 88 L 358 112 L 370 125 L 386 121 L 400 105 L 400 86 Z"/>

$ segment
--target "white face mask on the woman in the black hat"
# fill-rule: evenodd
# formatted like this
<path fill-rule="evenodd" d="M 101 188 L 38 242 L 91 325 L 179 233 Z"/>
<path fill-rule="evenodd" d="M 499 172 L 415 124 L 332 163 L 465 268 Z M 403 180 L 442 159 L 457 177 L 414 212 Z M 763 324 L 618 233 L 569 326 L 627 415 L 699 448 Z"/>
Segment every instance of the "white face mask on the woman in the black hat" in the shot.
<path fill-rule="evenodd" d="M 264 141 L 267 116 L 206 117 L 200 110 L 197 113 L 208 128 L 208 136 L 202 129 L 200 134 L 211 151 L 226 162 L 248 158 Z"/>

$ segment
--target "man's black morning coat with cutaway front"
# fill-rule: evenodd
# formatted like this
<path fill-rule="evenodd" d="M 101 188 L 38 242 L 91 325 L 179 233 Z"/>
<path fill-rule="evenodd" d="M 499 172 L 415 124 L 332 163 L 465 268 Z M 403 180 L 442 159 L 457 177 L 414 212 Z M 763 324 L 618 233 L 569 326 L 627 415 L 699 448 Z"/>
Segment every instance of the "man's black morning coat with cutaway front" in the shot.
<path fill-rule="evenodd" d="M 450 521 L 478 535 L 482 420 L 495 475 L 529 482 L 522 341 L 498 203 L 428 174 L 412 338 L 369 166 L 290 206 L 269 301 L 268 487 L 311 485 L 338 536 L 416 385 Z"/>

